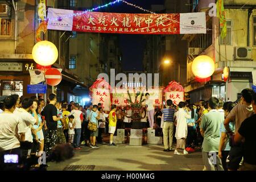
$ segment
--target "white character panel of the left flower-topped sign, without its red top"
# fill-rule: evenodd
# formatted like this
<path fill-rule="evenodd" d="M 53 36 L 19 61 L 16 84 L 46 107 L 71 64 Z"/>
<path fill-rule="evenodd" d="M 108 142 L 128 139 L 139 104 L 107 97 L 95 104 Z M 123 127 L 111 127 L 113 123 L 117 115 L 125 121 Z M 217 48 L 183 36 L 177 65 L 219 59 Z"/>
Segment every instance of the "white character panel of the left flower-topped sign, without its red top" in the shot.
<path fill-rule="evenodd" d="M 110 111 L 110 90 L 109 89 L 92 89 L 93 92 L 93 105 L 101 103 L 102 109 Z"/>

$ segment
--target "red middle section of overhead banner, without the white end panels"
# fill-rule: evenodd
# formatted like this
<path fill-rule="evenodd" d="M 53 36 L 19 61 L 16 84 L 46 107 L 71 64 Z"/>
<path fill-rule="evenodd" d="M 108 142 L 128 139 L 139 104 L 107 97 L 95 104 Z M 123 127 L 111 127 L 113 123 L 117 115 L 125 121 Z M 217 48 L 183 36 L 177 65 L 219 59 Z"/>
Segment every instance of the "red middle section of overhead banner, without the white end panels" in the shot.
<path fill-rule="evenodd" d="M 81 13 L 74 11 L 74 13 Z M 73 18 L 73 31 L 115 34 L 180 34 L 180 14 L 88 12 Z"/>

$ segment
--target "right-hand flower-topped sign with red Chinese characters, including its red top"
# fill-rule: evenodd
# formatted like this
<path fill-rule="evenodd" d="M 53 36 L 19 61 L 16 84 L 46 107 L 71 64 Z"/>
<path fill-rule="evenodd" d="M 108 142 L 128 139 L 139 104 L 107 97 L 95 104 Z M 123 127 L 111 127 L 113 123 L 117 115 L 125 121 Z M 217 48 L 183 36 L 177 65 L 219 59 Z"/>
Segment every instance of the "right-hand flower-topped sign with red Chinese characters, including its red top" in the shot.
<path fill-rule="evenodd" d="M 176 81 L 171 81 L 164 89 L 164 93 L 166 101 L 170 99 L 174 105 L 184 101 L 184 88 Z"/>

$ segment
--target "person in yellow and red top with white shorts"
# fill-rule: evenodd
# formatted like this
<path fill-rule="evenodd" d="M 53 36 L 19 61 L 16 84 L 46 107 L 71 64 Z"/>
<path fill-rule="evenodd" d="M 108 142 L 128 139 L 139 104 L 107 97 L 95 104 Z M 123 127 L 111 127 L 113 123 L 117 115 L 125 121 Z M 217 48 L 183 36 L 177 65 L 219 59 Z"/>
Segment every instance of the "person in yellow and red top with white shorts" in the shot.
<path fill-rule="evenodd" d="M 115 146 L 113 142 L 113 138 L 114 138 L 115 129 L 117 127 L 117 115 L 115 114 L 116 110 L 117 110 L 117 106 L 112 105 L 111 111 L 109 113 L 109 133 L 110 133 L 109 145 L 110 146 Z"/>

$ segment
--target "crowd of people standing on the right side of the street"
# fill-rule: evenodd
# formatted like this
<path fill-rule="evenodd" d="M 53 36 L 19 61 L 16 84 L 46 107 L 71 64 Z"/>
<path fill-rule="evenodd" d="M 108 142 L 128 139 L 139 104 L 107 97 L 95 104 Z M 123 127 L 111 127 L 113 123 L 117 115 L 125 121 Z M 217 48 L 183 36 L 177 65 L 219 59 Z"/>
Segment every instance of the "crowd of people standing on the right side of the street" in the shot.
<path fill-rule="evenodd" d="M 216 97 L 200 101 L 200 107 L 167 100 L 163 111 L 164 151 L 171 151 L 176 126 L 176 148 L 180 155 L 201 148 L 204 170 L 256 170 L 256 93 L 242 90 L 238 102 L 223 102 Z"/>

